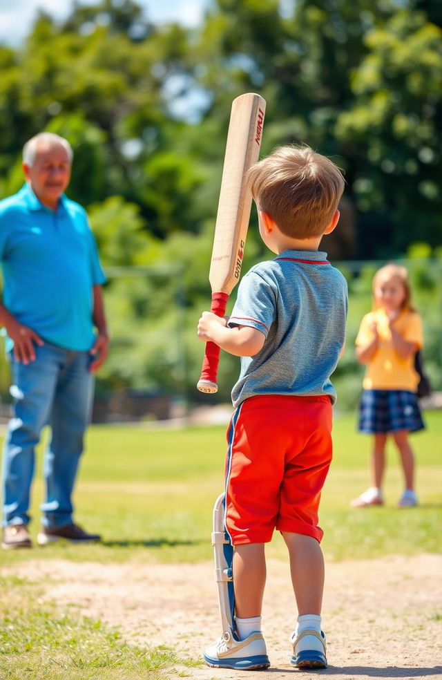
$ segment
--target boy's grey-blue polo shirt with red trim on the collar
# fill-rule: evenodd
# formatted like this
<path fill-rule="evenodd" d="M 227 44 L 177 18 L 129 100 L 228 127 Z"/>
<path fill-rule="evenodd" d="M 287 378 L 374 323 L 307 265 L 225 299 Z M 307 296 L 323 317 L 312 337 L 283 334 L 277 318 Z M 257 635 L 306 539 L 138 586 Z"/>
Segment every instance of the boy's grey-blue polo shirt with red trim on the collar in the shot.
<path fill-rule="evenodd" d="M 242 278 L 229 325 L 265 334 L 262 350 L 241 357 L 233 406 L 256 395 L 329 395 L 345 342 L 347 282 L 327 253 L 285 250 Z"/>

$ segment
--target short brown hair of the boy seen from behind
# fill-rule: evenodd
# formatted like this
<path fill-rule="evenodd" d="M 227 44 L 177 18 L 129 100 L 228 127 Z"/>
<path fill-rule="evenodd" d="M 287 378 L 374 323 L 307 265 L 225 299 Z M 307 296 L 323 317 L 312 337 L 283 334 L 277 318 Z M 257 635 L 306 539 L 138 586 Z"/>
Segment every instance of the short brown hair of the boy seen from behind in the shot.
<path fill-rule="evenodd" d="M 292 238 L 322 236 L 344 191 L 340 169 L 307 146 L 279 147 L 248 175 L 259 209 Z"/>

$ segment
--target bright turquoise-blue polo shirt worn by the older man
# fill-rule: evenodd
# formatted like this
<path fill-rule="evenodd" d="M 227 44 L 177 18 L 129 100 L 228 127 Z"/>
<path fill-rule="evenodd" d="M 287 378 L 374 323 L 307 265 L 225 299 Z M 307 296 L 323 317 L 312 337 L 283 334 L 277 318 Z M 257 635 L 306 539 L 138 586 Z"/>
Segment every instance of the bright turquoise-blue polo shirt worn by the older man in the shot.
<path fill-rule="evenodd" d="M 0 201 L 0 260 L 8 311 L 49 343 L 89 350 L 92 287 L 105 276 L 86 211 L 64 195 L 52 211 L 25 185 Z"/>

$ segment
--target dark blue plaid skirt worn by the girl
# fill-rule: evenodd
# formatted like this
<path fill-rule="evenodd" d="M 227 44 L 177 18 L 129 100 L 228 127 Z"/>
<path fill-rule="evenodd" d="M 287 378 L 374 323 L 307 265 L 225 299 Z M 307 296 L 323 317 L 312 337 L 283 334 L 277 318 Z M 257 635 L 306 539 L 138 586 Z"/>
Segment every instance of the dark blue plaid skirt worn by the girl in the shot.
<path fill-rule="evenodd" d="M 363 390 L 359 405 L 360 432 L 369 434 L 425 427 L 414 392 L 406 390 Z"/>

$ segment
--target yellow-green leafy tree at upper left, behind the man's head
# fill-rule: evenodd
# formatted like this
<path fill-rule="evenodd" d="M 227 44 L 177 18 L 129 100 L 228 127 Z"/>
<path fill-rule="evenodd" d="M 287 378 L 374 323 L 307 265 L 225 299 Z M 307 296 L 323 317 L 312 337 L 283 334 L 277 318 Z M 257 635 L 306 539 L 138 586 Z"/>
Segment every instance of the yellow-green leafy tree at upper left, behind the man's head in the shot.
<path fill-rule="evenodd" d="M 202 173 L 185 144 L 179 157 L 185 131 L 165 88 L 184 73 L 185 54 L 185 31 L 155 29 L 131 0 L 77 4 L 61 26 L 41 12 L 23 48 L 0 50 L 0 169 L 15 168 L 3 195 L 21 181 L 24 142 L 50 129 L 73 144 L 73 198 L 87 206 L 122 195 L 163 238 L 198 228 L 193 189 Z"/>

